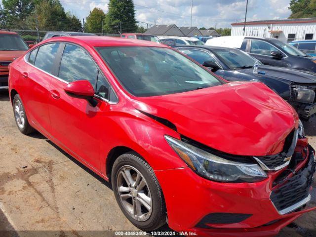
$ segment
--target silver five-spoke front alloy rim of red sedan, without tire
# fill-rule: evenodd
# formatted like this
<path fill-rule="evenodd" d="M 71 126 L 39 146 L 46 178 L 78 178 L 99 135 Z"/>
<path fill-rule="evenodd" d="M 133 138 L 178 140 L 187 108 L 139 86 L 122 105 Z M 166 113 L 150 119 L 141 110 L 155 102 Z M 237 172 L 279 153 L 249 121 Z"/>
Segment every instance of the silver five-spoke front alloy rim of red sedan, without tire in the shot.
<path fill-rule="evenodd" d="M 124 165 L 118 170 L 117 190 L 122 206 L 132 218 L 138 221 L 150 218 L 152 196 L 144 176 L 136 168 Z"/>

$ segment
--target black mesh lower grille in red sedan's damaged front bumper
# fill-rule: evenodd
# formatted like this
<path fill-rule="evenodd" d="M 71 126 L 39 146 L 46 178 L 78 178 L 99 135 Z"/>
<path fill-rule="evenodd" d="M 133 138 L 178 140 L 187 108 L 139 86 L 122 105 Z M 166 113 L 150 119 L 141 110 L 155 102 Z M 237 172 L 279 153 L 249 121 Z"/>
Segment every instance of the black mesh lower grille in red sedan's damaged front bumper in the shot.
<path fill-rule="evenodd" d="M 277 210 L 281 211 L 308 197 L 315 170 L 314 154 L 311 152 L 310 160 L 305 168 L 293 177 L 283 181 L 284 184 L 272 191 L 270 199 Z"/>

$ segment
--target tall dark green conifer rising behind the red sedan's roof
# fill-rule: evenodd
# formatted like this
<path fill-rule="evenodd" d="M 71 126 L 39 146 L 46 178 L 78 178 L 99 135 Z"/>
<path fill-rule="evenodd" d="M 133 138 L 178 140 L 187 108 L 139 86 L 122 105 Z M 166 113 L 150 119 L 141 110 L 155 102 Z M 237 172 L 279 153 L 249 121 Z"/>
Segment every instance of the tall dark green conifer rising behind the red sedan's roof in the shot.
<path fill-rule="evenodd" d="M 107 33 L 136 32 L 135 7 L 133 0 L 110 0 L 109 12 L 105 18 Z"/>

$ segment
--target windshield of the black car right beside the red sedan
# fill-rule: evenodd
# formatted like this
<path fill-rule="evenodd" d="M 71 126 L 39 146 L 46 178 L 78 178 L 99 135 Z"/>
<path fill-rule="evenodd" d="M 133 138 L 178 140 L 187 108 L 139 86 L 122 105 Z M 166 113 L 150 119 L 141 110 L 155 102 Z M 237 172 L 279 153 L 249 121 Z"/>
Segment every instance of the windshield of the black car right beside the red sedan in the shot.
<path fill-rule="evenodd" d="M 255 58 L 238 49 L 213 49 L 213 51 L 231 69 L 252 68 L 257 61 Z M 262 65 L 262 63 L 259 62 L 259 65 Z"/>

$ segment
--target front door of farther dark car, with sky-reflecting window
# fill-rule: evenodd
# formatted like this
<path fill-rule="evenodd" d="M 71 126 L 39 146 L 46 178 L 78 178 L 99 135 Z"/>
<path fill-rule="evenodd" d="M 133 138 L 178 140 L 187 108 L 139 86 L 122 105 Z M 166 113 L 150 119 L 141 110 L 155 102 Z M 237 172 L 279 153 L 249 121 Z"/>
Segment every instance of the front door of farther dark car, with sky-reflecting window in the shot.
<path fill-rule="evenodd" d="M 264 40 L 250 40 L 250 45 L 248 46 L 248 53 L 257 58 L 260 62 L 265 65 L 272 65 L 278 67 L 286 67 L 284 58 L 286 55 L 282 53 L 282 58 L 276 58 L 271 55 L 272 51 L 279 51 L 274 45 Z"/>

